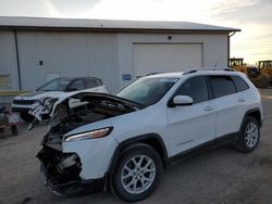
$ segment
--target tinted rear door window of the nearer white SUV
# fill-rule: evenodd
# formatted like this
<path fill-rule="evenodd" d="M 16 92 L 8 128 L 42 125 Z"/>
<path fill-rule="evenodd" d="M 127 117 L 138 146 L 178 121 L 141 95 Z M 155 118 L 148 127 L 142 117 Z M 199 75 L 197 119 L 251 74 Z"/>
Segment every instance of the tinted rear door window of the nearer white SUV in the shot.
<path fill-rule="evenodd" d="M 220 98 L 236 92 L 231 76 L 210 76 L 214 98 Z"/>

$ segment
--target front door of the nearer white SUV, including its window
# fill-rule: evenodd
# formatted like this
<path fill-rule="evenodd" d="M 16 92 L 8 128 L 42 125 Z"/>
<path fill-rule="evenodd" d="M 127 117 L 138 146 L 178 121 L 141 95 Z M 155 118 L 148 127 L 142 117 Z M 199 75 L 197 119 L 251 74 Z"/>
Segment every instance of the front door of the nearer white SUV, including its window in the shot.
<path fill-rule="evenodd" d="M 193 105 L 168 107 L 171 156 L 214 139 L 215 107 L 206 77 L 187 79 L 174 95 L 193 98 Z"/>

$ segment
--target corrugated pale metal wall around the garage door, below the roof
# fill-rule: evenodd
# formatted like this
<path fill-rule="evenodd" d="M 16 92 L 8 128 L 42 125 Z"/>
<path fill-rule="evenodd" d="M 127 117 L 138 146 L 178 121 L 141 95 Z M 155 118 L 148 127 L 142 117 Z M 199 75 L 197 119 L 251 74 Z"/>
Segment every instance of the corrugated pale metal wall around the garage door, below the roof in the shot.
<path fill-rule="evenodd" d="M 55 74 L 97 76 L 110 91 L 116 90 L 125 84 L 122 74 L 135 77 L 134 43 L 201 43 L 203 66 L 226 66 L 227 38 L 227 34 L 17 31 L 22 89 L 33 90 Z M 18 89 L 14 33 L 0 30 L 0 75 L 4 73 L 11 74 L 11 90 Z"/>

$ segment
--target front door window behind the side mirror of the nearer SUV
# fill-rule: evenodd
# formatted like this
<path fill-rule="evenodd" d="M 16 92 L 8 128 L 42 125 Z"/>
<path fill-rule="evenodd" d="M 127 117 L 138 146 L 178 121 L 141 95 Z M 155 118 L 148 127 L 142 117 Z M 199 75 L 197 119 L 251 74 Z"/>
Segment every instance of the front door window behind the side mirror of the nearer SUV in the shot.
<path fill-rule="evenodd" d="M 194 77 L 186 80 L 175 92 L 175 95 L 188 95 L 195 103 L 209 100 L 209 92 L 203 76 Z"/>

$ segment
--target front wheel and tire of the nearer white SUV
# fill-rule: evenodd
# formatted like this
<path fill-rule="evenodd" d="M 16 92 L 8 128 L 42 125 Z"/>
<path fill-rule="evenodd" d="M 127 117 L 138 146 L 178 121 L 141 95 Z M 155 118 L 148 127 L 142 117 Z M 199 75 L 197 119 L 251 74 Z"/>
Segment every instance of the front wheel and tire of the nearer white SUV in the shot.
<path fill-rule="evenodd" d="M 161 158 L 153 148 L 134 145 L 120 155 L 112 175 L 113 193 L 127 202 L 144 200 L 154 191 L 161 171 Z"/>

